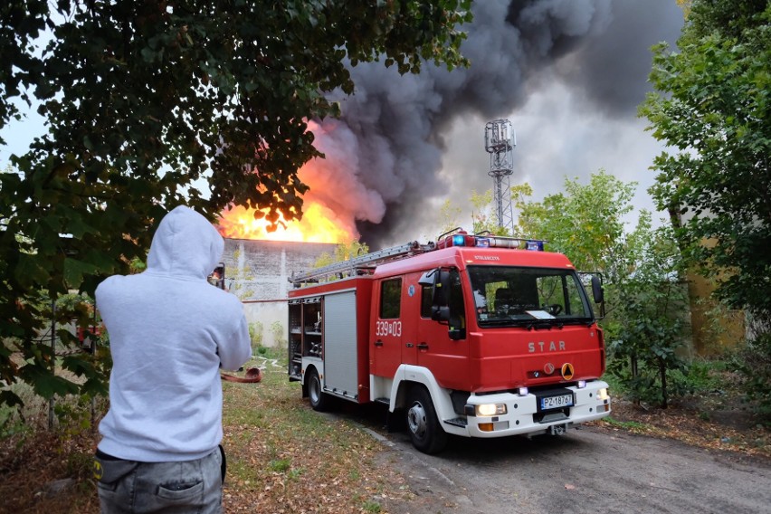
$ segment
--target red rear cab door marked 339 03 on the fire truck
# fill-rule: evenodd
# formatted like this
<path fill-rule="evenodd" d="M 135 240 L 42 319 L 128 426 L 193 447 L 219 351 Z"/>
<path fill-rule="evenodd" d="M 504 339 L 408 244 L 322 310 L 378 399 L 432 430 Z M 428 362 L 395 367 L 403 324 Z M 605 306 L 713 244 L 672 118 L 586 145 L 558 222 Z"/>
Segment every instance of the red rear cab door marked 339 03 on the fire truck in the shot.
<path fill-rule="evenodd" d="M 376 376 L 393 378 L 402 363 L 403 284 L 403 277 L 390 277 L 375 284 L 370 358 L 372 373 Z"/>

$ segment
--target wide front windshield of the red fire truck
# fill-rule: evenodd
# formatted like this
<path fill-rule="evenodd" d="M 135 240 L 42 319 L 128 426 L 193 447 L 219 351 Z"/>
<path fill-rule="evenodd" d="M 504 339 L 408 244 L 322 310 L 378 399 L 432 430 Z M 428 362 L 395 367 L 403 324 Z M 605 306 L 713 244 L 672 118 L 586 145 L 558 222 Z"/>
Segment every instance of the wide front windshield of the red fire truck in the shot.
<path fill-rule="evenodd" d="M 469 266 L 480 326 L 586 323 L 594 314 L 573 270 Z"/>

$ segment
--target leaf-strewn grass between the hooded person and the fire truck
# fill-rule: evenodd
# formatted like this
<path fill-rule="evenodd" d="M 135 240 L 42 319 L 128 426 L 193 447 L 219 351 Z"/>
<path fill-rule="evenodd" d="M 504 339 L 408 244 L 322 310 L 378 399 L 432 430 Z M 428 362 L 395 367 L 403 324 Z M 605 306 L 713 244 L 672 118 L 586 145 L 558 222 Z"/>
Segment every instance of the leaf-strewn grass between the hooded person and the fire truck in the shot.
<path fill-rule="evenodd" d="M 258 495 L 265 512 L 381 512 L 376 491 L 407 495 L 395 471 L 376 467 L 381 447 L 369 434 L 310 408 L 300 383 L 289 381 L 283 349 L 258 354 L 244 369 L 254 366 L 263 371 L 259 384 L 223 383 L 226 504 Z"/>

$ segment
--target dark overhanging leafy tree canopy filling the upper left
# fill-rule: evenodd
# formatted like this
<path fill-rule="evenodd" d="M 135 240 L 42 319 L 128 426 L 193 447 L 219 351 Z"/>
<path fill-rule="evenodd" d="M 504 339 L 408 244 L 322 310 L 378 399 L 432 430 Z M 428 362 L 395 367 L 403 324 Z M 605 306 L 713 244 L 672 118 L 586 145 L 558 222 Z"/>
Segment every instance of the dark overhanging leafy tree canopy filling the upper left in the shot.
<path fill-rule="evenodd" d="M 41 295 L 127 271 L 174 205 L 300 217 L 297 171 L 320 155 L 307 122 L 338 114 L 325 93 L 351 93 L 358 62 L 465 64 L 457 27 L 470 4 L 5 1 L 0 128 L 25 102 L 47 131 L 0 174 L 0 337 L 36 336 Z"/>

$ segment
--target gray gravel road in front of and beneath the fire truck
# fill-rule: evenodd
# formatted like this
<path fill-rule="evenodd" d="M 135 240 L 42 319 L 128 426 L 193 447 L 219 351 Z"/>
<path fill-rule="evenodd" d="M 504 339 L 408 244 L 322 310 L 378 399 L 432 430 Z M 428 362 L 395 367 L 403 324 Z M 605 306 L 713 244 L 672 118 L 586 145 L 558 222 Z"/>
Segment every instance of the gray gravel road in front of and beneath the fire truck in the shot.
<path fill-rule="evenodd" d="M 769 513 L 771 462 L 596 426 L 561 437 L 452 439 L 439 455 L 377 435 L 415 498 L 392 514 Z"/>

